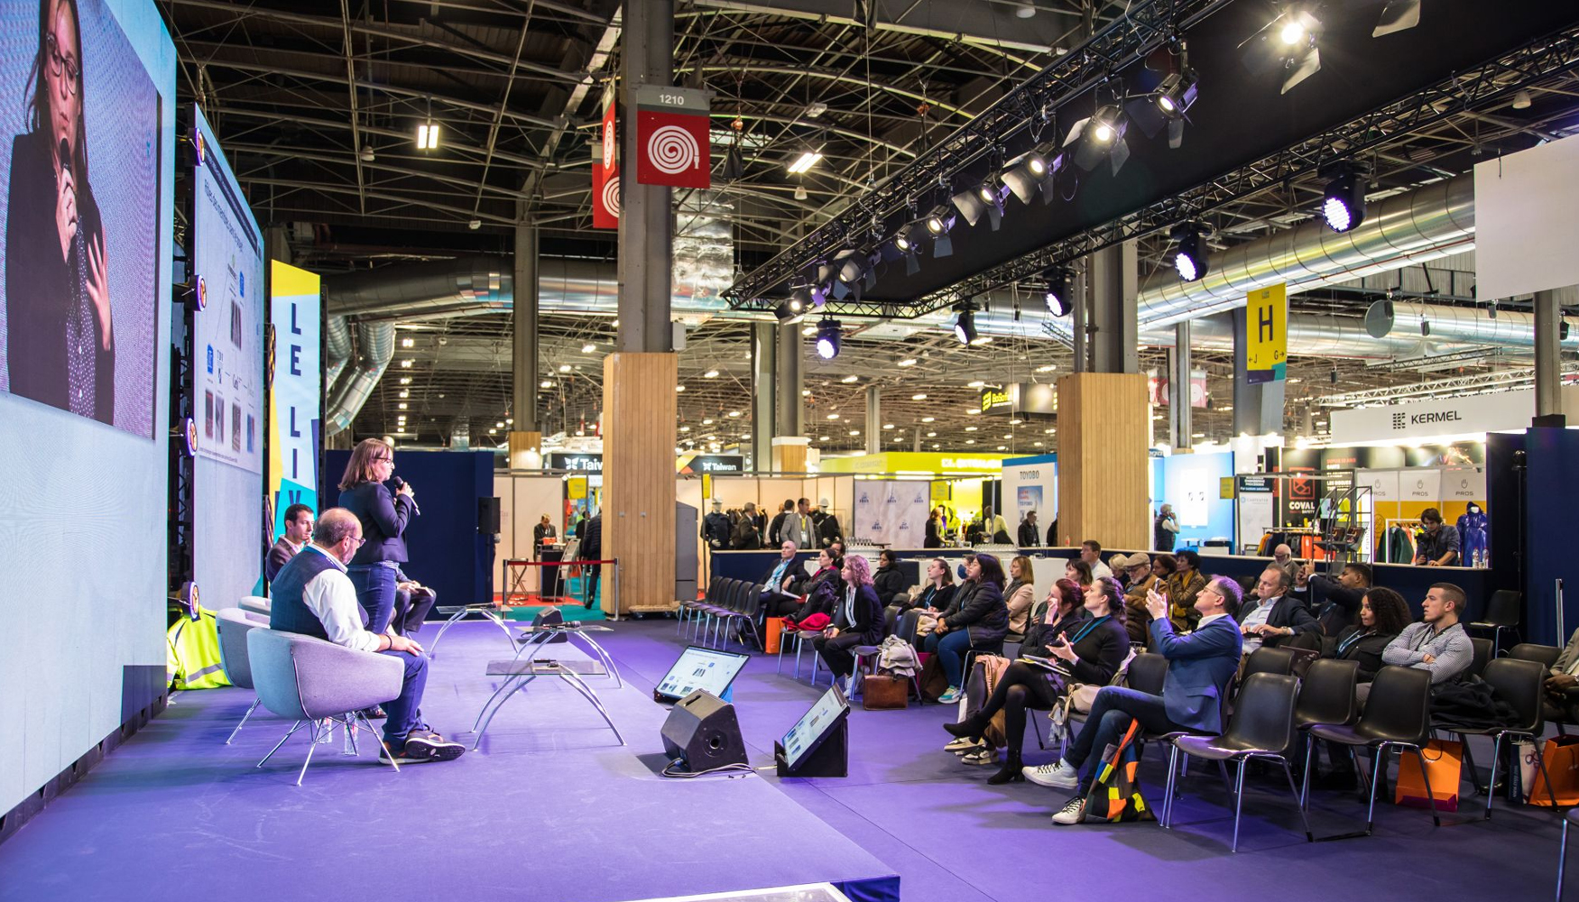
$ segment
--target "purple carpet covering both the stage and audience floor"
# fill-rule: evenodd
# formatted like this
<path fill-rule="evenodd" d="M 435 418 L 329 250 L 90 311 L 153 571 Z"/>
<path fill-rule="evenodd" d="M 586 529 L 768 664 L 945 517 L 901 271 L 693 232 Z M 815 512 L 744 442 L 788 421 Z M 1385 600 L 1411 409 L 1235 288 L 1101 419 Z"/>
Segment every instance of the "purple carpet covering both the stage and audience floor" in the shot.
<path fill-rule="evenodd" d="M 480 754 L 393 774 L 321 746 L 302 788 L 300 733 L 253 765 L 286 723 L 257 714 L 226 747 L 249 695 L 178 695 L 171 709 L 0 845 L 0 899 L 543 899 L 616 902 L 808 881 L 881 894 L 898 875 L 916 900 L 1107 897 L 1145 886 L 1262 902 L 1293 886 L 1323 896 L 1546 899 L 1557 818 L 1544 809 L 1445 815 L 1378 806 L 1371 839 L 1309 845 L 1281 774 L 1251 776 L 1240 853 L 1216 774 L 1194 768 L 1175 829 L 1154 823 L 1055 828 L 1067 793 L 988 787 L 990 768 L 941 750 L 954 708 L 861 711 L 846 779 L 665 780 L 638 758 L 662 752 L 665 709 L 651 689 L 681 649 L 674 621 L 598 633 L 627 687 L 591 681 L 630 742 L 621 747 L 568 687 L 537 681 L 493 722 Z M 434 627 L 428 627 L 429 635 Z M 572 657 L 554 646 L 556 657 Z M 471 727 L 507 646 L 496 627 L 444 637 L 425 714 L 444 733 Z M 753 765 L 826 687 L 774 675 L 758 657 L 734 684 Z M 1048 755 L 1028 739 L 1026 760 Z M 1480 747 L 1476 747 L 1480 750 Z M 1489 760 L 1481 752 L 1481 761 Z M 1161 796 L 1157 755 L 1142 765 Z M 1464 785 L 1468 791 L 1468 784 Z M 1472 809 L 1478 799 L 1465 799 Z M 1318 793 L 1317 836 L 1363 826 L 1352 793 Z"/>

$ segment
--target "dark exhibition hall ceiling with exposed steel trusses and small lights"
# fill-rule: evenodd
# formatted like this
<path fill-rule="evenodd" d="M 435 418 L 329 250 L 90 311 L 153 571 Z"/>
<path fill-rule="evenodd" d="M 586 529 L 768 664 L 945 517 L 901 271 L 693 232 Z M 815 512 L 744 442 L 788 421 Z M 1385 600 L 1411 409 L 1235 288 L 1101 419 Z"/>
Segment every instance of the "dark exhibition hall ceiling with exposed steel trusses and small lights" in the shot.
<path fill-rule="evenodd" d="M 613 267 L 613 232 L 591 229 L 589 167 L 603 92 L 619 70 L 619 3 L 159 0 L 159 6 L 175 39 L 183 100 L 204 106 L 259 221 L 287 229 L 298 265 L 327 275 L 474 254 L 507 257 L 515 223 L 531 221 L 545 256 Z M 1097 0 L 677 2 L 676 79 L 714 92 L 718 191 L 706 204 L 733 235 L 737 272 L 748 273 L 794 246 L 872 185 L 900 177 L 917 156 L 946 147 L 960 126 L 1064 60 L 1126 6 Z M 1222 27 L 1249 22 L 1252 3 L 1225 6 Z M 1421 39 L 1435 39 L 1431 16 L 1426 3 Z M 1203 52 L 1192 51 L 1191 62 L 1205 66 L 1197 62 Z M 1375 62 L 1330 52 L 1323 71 L 1284 100 L 1298 111 L 1314 103 L 1300 101 L 1301 88 L 1322 92 L 1323 76 L 1348 84 L 1367 65 Z M 1211 68 L 1232 71 L 1216 62 Z M 1397 77 L 1397 66 L 1388 73 Z M 1372 202 L 1467 172 L 1478 160 L 1571 134 L 1579 122 L 1579 84 L 1570 73 L 1555 71 L 1497 109 L 1445 104 L 1438 111 L 1445 115 L 1431 125 L 1382 136 L 1364 155 Z M 1244 71 L 1243 77 L 1252 76 Z M 1184 150 L 1195 156 L 1224 141 L 1203 131 L 1214 122 L 1205 111 L 1200 126 L 1184 137 Z M 441 130 L 439 147 L 418 150 L 415 130 L 428 122 Z M 1290 122 L 1301 120 L 1293 115 Z M 1131 144 L 1143 141 L 1132 131 Z M 790 175 L 788 163 L 812 145 L 823 158 L 804 175 Z M 742 172 L 720 185 L 731 147 L 741 152 Z M 1150 167 L 1165 166 L 1168 156 L 1148 150 L 1135 160 L 1156 161 Z M 1222 160 L 1221 171 L 1235 164 L 1238 158 Z M 1221 251 L 1309 221 L 1323 186 L 1323 179 L 1301 175 L 1222 204 L 1203 218 L 1208 242 Z M 687 201 L 685 193 L 676 194 Z M 1006 215 L 1003 229 L 1012 227 L 1014 216 Z M 1007 237 L 987 243 L 1030 246 Z M 1142 235 L 1138 250 L 1142 283 L 1172 270 L 1167 234 Z M 1448 269 L 1472 270 L 1472 257 L 1462 257 L 1427 264 L 1435 267 L 1431 272 L 1413 267 L 1408 278 L 1383 273 L 1364 284 L 1301 294 L 1292 306 L 1296 314 L 1353 325 L 1391 289 L 1404 300 L 1420 295 L 1480 311 L 1473 275 Z M 946 278 L 957 275 L 951 270 Z M 865 389 L 878 385 L 878 427 L 894 427 L 883 430 L 884 447 L 910 449 L 921 439 L 924 449 L 1052 449 L 1056 433 L 1045 431 L 1052 423 L 987 427 L 979 420 L 988 417 L 966 412 L 977 400 L 970 382 L 1050 381 L 1069 371 L 1069 346 L 1044 329 L 1048 314 L 1036 294 L 1039 284 L 1030 280 L 993 292 L 995 310 L 1018 308 L 1018 318 L 981 348 L 960 348 L 935 324 L 903 335 L 903 324 L 846 318 L 840 357 L 804 363 L 807 434 L 826 438 L 820 444 L 829 450 L 865 445 L 864 434 L 850 433 L 865 431 Z M 1516 302 L 1503 306 L 1517 308 Z M 390 370 L 354 431 L 393 431 L 395 414 L 406 404 L 417 444 L 439 444 L 456 422 L 469 425 L 474 447 L 502 441 L 507 430 L 496 423 L 513 419 L 510 318 L 425 319 L 403 324 L 399 335 L 414 340 L 407 354 L 414 363 Z M 545 310 L 540 335 L 540 379 L 549 382 L 538 401 L 545 431 L 591 431 L 583 423 L 595 422 L 600 408 L 602 355 L 613 346 L 613 321 Z M 684 439 L 706 445 L 703 436 L 712 434 L 733 444 L 748 433 L 748 321 L 692 318 L 681 354 Z M 1377 366 L 1385 360 L 1374 354 L 1314 357 L 1301 355 L 1298 346 L 1290 352 L 1290 374 L 1298 379 L 1288 385 L 1295 431 L 1304 428 L 1306 408 L 1314 411 L 1312 428 L 1322 428 L 1325 408 L 1317 401 L 1323 395 L 1407 390 L 1446 376 L 1506 379 L 1510 370 L 1527 366 L 1513 349 L 1468 354 L 1462 365 L 1426 373 Z M 1142 368 L 1165 370 L 1165 355 L 1161 346 L 1143 349 Z M 1195 357 L 1208 373 L 1213 408 L 1197 411 L 1194 431 L 1227 438 L 1232 357 L 1221 346 Z M 906 359 L 917 363 L 895 366 Z M 718 374 L 706 378 L 709 371 Z M 396 374 L 411 382 L 399 384 Z M 731 417 L 733 411 L 741 415 Z M 703 425 L 707 419 L 714 423 Z M 1154 425 L 1164 431 L 1165 423 Z"/>

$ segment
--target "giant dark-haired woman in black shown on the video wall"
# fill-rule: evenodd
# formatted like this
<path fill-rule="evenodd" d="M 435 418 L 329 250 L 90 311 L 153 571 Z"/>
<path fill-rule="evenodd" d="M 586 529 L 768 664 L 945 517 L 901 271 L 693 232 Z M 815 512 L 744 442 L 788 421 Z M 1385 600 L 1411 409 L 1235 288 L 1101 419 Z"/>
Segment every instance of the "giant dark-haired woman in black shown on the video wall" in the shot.
<path fill-rule="evenodd" d="M 11 144 L 6 330 L 11 392 L 101 422 L 115 414 L 104 226 L 88 182 L 76 0 L 39 0 L 28 131 Z"/>

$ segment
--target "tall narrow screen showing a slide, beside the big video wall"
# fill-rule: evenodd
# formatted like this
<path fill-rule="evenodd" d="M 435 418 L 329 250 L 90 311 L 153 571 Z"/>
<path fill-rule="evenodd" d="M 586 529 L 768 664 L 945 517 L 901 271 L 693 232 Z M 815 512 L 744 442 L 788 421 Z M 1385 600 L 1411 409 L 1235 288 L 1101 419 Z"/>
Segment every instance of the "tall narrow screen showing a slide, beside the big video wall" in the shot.
<path fill-rule="evenodd" d="M 208 608 L 262 592 L 264 235 L 193 107 L 193 580 Z"/>

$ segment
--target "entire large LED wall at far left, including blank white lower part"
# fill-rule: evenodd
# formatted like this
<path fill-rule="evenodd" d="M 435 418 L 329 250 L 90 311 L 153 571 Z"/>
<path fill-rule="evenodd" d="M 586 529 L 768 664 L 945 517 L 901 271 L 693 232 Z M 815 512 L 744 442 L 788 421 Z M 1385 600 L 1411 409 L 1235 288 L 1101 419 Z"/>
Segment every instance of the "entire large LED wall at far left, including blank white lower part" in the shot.
<path fill-rule="evenodd" d="M 5 814 L 166 684 L 175 46 L 153 0 L 11 0 L 0 47 Z"/>

